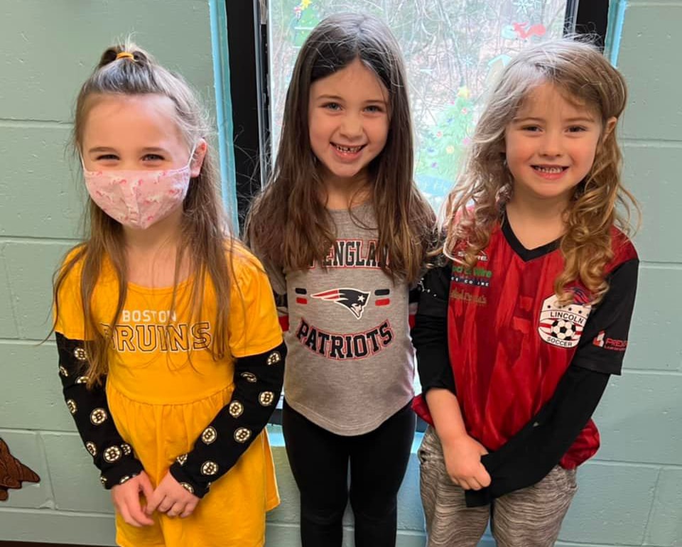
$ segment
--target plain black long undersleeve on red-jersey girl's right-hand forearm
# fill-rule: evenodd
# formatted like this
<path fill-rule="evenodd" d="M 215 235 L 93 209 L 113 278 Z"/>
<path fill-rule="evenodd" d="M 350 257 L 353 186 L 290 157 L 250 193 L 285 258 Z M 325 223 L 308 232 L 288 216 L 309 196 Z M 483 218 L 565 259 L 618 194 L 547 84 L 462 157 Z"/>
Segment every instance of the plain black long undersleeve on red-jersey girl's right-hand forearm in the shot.
<path fill-rule="evenodd" d="M 568 367 L 541 411 L 502 448 L 481 457 L 490 486 L 467 490 L 467 507 L 489 504 L 546 477 L 590 421 L 609 376 L 585 367 Z"/>

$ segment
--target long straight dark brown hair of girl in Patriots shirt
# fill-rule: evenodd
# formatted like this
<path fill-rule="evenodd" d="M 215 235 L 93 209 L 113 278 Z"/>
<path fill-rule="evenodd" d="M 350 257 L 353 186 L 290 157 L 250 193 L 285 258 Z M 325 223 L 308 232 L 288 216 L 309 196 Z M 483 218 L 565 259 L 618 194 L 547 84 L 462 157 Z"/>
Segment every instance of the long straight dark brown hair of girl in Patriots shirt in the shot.
<path fill-rule="evenodd" d="M 413 136 L 403 60 L 389 28 L 353 13 L 325 18 L 298 53 L 286 94 L 279 149 L 266 187 L 247 220 L 247 243 L 278 270 L 323 262 L 335 241 L 323 182 L 310 148 L 310 85 L 359 59 L 389 91 L 389 134 L 369 166 L 379 230 L 381 268 L 391 278 L 417 280 L 433 238 L 435 215 L 413 181 Z"/>

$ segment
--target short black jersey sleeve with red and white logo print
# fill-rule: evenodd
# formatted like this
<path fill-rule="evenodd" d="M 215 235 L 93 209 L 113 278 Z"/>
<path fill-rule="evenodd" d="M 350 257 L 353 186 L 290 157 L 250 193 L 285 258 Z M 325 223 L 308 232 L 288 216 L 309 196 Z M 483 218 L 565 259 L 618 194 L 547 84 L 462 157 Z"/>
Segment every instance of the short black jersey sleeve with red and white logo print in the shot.
<path fill-rule="evenodd" d="M 611 273 L 609 291 L 590 313 L 571 364 L 595 372 L 620 374 L 637 292 L 638 267 L 639 261 L 632 259 Z"/>

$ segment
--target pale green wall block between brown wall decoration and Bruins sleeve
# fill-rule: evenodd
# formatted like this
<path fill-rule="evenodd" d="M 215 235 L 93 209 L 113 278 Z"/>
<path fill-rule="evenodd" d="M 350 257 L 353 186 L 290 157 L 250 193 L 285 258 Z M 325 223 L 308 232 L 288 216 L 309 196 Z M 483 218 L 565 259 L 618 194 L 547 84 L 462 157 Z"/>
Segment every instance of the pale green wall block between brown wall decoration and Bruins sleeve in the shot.
<path fill-rule="evenodd" d="M 55 509 L 114 514 L 111 494 L 77 433 L 42 433 Z"/>

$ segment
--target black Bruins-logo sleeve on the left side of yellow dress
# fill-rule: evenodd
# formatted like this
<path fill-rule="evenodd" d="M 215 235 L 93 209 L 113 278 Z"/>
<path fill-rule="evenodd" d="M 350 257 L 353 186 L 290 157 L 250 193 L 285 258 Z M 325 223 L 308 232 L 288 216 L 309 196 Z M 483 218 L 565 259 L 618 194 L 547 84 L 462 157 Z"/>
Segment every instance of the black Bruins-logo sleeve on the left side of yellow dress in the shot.
<path fill-rule="evenodd" d="M 66 406 L 73 416 L 80 438 L 99 469 L 99 480 L 110 489 L 123 484 L 143 470 L 131 445 L 118 432 L 107 404 L 107 377 L 87 389 L 87 355 L 82 340 L 70 340 L 55 333 L 59 352 L 59 376 Z"/>

